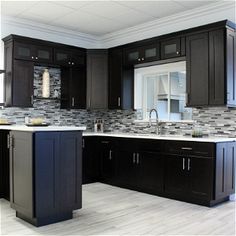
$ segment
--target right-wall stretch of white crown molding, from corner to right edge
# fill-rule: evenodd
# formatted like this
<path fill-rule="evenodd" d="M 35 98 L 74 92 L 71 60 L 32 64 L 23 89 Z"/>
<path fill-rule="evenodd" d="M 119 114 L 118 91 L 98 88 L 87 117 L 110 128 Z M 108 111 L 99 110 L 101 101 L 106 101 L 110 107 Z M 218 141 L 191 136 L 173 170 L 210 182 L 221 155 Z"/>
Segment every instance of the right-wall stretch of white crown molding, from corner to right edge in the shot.
<path fill-rule="evenodd" d="M 193 10 L 177 13 L 168 17 L 140 24 L 100 37 L 102 45 L 114 47 L 142 39 L 168 34 L 220 20 L 235 20 L 235 1 L 221 1 Z"/>

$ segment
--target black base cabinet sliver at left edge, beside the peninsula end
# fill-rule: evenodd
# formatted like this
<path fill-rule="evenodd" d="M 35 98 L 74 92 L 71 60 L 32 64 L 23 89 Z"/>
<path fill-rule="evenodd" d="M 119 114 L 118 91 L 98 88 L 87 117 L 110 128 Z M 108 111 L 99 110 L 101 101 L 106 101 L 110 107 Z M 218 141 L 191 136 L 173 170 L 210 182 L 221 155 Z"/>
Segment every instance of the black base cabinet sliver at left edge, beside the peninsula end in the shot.
<path fill-rule="evenodd" d="M 10 199 L 9 131 L 0 130 L 0 198 Z"/>

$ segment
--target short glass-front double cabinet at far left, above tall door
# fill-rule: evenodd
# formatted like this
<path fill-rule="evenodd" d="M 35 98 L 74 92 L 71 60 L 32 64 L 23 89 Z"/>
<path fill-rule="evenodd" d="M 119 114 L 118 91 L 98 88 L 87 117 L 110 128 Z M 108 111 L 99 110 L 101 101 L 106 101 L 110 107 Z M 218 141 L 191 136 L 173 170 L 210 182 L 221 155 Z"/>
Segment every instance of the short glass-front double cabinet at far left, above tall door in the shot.
<path fill-rule="evenodd" d="M 53 48 L 43 45 L 32 45 L 22 42 L 14 43 L 14 58 L 38 63 L 52 63 Z"/>

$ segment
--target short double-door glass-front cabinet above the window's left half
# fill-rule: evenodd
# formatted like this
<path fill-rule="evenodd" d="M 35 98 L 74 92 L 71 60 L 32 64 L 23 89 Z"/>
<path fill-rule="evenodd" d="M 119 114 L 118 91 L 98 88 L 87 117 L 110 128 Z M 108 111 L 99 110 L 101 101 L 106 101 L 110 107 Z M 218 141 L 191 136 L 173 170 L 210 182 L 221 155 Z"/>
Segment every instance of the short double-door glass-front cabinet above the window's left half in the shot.
<path fill-rule="evenodd" d="M 157 41 L 143 44 L 139 47 L 124 49 L 124 65 L 135 65 L 160 59 L 159 43 Z"/>

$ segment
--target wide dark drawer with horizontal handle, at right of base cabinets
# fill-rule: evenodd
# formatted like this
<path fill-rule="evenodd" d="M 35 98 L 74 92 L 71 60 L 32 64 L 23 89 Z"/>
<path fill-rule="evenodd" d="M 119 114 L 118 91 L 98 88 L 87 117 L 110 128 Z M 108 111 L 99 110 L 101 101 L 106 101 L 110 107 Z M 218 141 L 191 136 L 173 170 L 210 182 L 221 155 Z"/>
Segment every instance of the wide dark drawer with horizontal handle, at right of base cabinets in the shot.
<path fill-rule="evenodd" d="M 166 144 L 166 152 L 171 154 L 181 155 L 196 155 L 196 156 L 214 156 L 213 143 L 202 143 L 202 142 L 168 142 Z"/>

